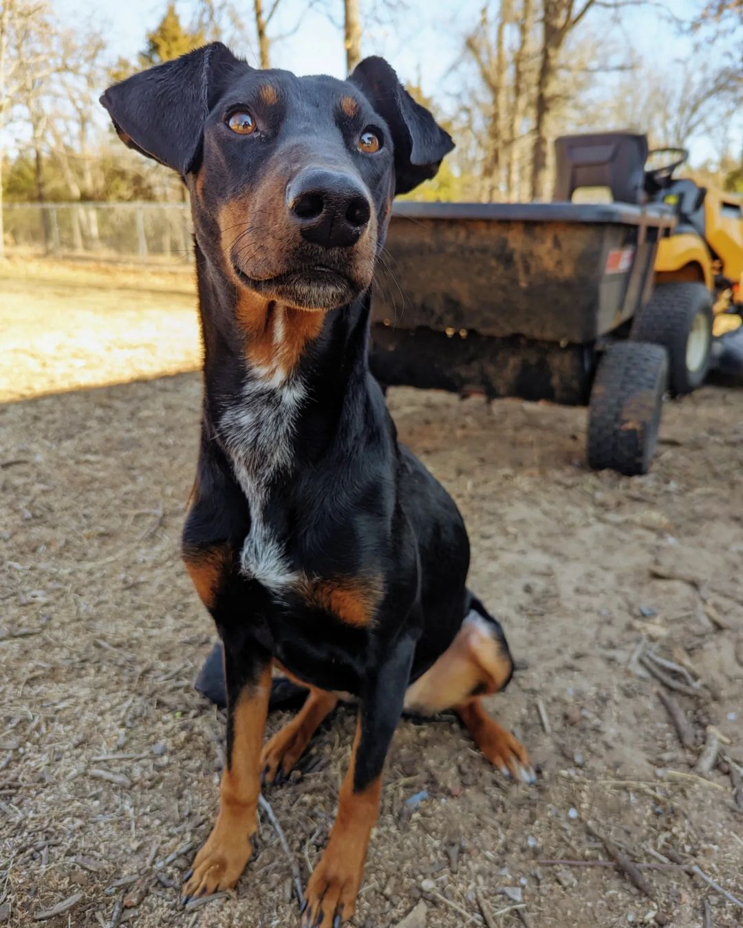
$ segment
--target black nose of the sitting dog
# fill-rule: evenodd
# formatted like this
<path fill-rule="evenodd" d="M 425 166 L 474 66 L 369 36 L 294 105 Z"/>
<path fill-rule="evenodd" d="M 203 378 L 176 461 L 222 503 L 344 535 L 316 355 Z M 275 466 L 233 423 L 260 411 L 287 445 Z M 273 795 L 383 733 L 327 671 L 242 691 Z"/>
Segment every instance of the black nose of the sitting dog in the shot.
<path fill-rule="evenodd" d="M 354 245 L 372 217 L 366 191 L 351 174 L 313 168 L 286 188 L 286 202 L 302 237 L 323 248 Z"/>

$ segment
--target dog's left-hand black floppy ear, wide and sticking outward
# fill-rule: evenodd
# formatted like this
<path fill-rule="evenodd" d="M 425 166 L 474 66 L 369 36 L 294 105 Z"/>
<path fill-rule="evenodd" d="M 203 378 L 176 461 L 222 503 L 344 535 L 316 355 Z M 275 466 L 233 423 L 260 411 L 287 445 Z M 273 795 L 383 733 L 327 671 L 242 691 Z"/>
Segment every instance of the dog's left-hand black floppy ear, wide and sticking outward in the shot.
<path fill-rule="evenodd" d="M 250 70 L 213 42 L 113 84 L 100 102 L 124 145 L 187 174 L 209 110 L 238 68 Z"/>

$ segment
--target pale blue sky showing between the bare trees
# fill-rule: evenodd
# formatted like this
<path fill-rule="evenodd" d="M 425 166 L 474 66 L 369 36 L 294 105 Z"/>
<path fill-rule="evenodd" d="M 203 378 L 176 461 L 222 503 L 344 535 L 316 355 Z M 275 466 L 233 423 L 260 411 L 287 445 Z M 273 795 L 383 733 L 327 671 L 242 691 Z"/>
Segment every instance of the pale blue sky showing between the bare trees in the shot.
<path fill-rule="evenodd" d="M 381 11 L 379 19 L 372 20 L 364 35 L 364 54 L 380 54 L 387 58 L 401 78 L 423 85 L 424 92 L 436 97 L 445 107 L 453 105 L 451 93 L 454 79 L 450 74 L 463 45 L 463 36 L 479 19 L 484 0 L 405 0 L 393 6 L 398 11 L 395 25 L 385 24 L 385 0 L 361 0 L 364 6 Z M 105 23 L 111 58 L 135 58 L 144 45 L 144 35 L 163 14 L 165 0 L 124 0 L 117 4 L 100 0 L 52 0 L 60 19 L 75 25 L 90 19 L 98 26 Z M 268 6 L 269 0 L 266 0 Z M 688 18 L 698 9 L 698 0 L 665 0 L 666 6 L 679 18 Z M 246 17 L 252 17 L 252 0 L 242 0 Z M 299 74 L 322 71 L 336 77 L 345 76 L 345 53 L 340 30 L 341 0 L 317 0 L 309 5 L 306 0 L 280 0 L 279 15 L 271 24 L 271 31 L 287 33 L 272 48 L 272 61 L 277 67 Z M 194 5 L 192 0 L 176 0 L 184 21 L 189 22 Z M 494 6 L 494 5 L 493 5 Z M 319 7 L 319 8 L 318 8 Z M 331 10 L 334 22 L 323 15 Z M 388 18 L 387 18 L 388 19 Z M 299 28 L 293 32 L 297 21 Z M 691 40 L 673 29 L 662 18 L 656 6 L 630 6 L 618 23 L 603 10 L 592 11 L 586 25 L 594 34 L 606 38 L 607 46 L 621 49 L 630 45 L 642 58 L 656 65 L 666 63 L 669 68 L 688 67 L 694 61 Z M 292 34 L 288 34 L 292 33 Z M 252 62 L 254 48 L 233 49 Z M 743 122 L 743 118 L 741 119 Z M 733 132 L 736 142 L 743 138 L 743 124 Z M 713 154 L 710 140 L 700 137 L 693 140 L 692 160 L 701 161 Z"/>

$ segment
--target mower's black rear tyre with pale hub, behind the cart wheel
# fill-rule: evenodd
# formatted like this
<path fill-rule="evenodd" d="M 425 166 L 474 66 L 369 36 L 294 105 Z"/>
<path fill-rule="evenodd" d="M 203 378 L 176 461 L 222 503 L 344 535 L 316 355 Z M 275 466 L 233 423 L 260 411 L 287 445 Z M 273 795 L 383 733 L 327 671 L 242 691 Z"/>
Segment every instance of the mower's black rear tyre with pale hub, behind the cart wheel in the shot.
<path fill-rule="evenodd" d="M 710 370 L 712 297 L 704 284 L 660 284 L 632 322 L 632 342 L 663 345 L 669 357 L 669 389 L 691 393 Z"/>

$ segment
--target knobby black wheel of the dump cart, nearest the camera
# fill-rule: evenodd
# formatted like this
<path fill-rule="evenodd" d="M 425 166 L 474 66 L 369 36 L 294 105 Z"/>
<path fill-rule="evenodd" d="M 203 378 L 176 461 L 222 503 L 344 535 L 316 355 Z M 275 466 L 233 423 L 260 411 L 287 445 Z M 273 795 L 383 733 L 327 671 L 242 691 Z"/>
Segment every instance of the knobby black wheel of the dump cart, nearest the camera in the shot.
<path fill-rule="evenodd" d="M 668 355 L 659 345 L 615 342 L 596 371 L 588 411 L 588 464 L 647 473 L 658 443 Z"/>

